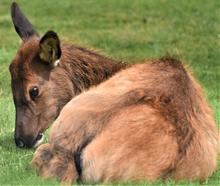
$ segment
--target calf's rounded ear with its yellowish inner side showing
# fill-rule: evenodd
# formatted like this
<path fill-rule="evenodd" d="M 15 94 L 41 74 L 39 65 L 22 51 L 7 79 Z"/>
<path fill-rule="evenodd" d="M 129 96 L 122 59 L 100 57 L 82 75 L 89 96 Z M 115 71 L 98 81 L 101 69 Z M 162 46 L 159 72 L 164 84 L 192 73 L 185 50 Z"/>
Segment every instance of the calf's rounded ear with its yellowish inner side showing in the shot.
<path fill-rule="evenodd" d="M 40 58 L 57 66 L 61 56 L 60 40 L 53 31 L 48 31 L 40 40 Z"/>

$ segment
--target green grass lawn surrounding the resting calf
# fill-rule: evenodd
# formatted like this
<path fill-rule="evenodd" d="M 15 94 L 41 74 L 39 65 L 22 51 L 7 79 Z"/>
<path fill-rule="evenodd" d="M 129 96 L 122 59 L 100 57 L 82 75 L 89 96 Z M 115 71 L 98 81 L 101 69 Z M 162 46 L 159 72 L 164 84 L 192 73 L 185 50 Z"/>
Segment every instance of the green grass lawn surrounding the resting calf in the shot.
<path fill-rule="evenodd" d="M 15 110 L 8 66 L 20 40 L 11 22 L 10 2 L 0 1 L 0 185 L 58 184 L 42 180 L 30 168 L 33 150 L 20 150 L 14 145 Z M 219 0 L 17 2 L 41 34 L 52 29 L 65 41 L 129 62 L 167 54 L 178 56 L 203 85 L 220 124 Z M 149 185 L 175 183 L 158 181 Z M 178 185 L 199 183 L 181 182 Z M 220 168 L 203 185 L 220 185 Z"/>

